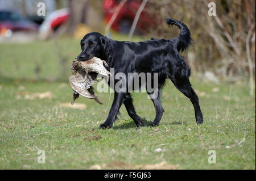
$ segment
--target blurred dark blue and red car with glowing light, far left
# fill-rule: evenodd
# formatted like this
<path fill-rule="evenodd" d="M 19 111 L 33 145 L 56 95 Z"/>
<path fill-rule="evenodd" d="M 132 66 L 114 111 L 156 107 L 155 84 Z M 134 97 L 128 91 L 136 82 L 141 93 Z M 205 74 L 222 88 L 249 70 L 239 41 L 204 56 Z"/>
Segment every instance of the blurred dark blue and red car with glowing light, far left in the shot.
<path fill-rule="evenodd" d="M 0 10 L 0 35 L 10 37 L 15 31 L 38 31 L 38 25 L 18 12 Z"/>

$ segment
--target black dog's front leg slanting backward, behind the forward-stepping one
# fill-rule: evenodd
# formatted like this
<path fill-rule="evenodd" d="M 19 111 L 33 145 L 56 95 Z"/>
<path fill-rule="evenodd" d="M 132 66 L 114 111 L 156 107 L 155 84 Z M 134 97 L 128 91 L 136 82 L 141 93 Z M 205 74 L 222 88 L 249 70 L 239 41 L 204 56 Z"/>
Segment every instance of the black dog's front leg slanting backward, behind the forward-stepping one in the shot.
<path fill-rule="evenodd" d="M 137 115 L 130 93 L 125 96 L 123 104 L 125 104 L 128 115 L 134 120 L 137 127 L 144 127 L 144 121 Z"/>

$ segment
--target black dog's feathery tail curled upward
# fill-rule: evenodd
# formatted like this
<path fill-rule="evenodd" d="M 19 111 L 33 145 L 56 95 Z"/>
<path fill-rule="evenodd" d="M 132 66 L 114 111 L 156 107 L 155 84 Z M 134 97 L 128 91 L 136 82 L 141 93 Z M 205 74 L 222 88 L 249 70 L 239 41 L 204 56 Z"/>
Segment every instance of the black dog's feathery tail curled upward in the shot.
<path fill-rule="evenodd" d="M 188 27 L 184 23 L 181 23 L 175 19 L 167 18 L 166 22 L 169 25 L 171 24 L 171 26 L 175 24 L 177 27 L 180 28 L 180 35 L 175 39 L 176 39 L 177 50 L 179 52 L 180 51 L 183 52 L 189 47 L 189 45 L 192 44 L 192 38 L 191 38 Z"/>

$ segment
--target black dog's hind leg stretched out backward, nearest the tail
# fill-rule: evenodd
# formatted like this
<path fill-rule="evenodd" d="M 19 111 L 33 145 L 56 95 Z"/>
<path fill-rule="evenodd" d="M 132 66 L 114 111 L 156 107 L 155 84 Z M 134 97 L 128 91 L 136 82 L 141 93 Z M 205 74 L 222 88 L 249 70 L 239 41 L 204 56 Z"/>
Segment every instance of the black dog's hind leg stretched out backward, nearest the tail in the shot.
<path fill-rule="evenodd" d="M 203 114 L 200 109 L 199 99 L 196 92 L 191 87 L 188 76 L 182 77 L 180 73 L 176 73 L 176 76 L 170 76 L 169 78 L 174 83 L 175 87 L 190 99 L 195 110 L 196 123 L 202 124 Z"/>

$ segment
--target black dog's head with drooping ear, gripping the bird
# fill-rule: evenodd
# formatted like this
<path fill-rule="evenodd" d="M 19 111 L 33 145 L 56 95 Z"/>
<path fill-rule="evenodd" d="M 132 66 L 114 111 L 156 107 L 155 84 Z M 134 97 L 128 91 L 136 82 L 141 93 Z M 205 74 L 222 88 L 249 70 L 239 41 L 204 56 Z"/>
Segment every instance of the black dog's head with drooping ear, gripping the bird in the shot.
<path fill-rule="evenodd" d="M 88 61 L 92 57 L 104 58 L 106 37 L 97 32 L 88 33 L 81 40 L 82 52 L 77 56 L 78 61 Z"/>

